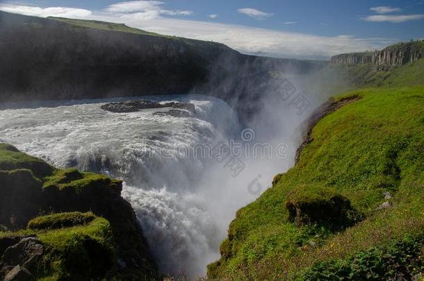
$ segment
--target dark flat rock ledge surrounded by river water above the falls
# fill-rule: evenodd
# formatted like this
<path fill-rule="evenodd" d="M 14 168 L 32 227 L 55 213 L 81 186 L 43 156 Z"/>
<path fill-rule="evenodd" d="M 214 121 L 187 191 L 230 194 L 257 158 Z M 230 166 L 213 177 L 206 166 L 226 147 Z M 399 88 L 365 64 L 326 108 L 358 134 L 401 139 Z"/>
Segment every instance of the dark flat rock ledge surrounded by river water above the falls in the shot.
<path fill-rule="evenodd" d="M 154 101 L 140 99 L 136 101 L 121 101 L 118 103 L 106 103 L 101 105 L 102 110 L 115 113 L 138 112 L 139 110 L 149 108 L 174 108 L 177 110 L 188 110 L 191 113 L 195 113 L 195 105 L 193 105 L 193 103 L 179 103 L 174 101 L 169 103 L 156 103 Z"/>

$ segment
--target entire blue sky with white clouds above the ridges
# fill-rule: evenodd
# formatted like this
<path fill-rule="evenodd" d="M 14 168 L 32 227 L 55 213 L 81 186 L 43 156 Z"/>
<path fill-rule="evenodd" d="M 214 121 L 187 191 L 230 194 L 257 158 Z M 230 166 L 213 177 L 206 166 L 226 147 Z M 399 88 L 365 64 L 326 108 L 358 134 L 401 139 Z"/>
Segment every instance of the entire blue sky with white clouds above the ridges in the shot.
<path fill-rule="evenodd" d="M 0 10 L 122 22 L 243 53 L 327 59 L 424 38 L 424 0 L 0 1 Z"/>

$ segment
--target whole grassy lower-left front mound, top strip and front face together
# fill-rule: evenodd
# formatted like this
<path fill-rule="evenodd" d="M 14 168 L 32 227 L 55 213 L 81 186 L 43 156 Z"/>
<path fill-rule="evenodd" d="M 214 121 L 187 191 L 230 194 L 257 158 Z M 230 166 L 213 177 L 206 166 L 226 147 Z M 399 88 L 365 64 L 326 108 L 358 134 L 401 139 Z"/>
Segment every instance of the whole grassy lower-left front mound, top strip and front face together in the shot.
<path fill-rule="evenodd" d="M 100 280 L 115 273 L 116 246 L 106 219 L 90 212 L 51 214 L 33 219 L 26 229 L 0 232 L 0 238 L 29 234 L 44 245 L 33 271 L 38 280 Z"/>

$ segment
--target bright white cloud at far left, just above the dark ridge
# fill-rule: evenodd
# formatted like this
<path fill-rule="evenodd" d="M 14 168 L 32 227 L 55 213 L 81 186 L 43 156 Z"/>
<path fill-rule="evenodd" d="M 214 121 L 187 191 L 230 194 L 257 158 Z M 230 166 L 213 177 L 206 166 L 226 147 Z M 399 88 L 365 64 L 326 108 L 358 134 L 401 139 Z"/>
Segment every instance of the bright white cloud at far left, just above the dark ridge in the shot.
<path fill-rule="evenodd" d="M 33 6 L 22 6 L 8 3 L 0 3 L 0 10 L 36 17 L 72 17 L 85 18 L 92 14 L 90 10 L 67 7 L 40 8 Z"/>

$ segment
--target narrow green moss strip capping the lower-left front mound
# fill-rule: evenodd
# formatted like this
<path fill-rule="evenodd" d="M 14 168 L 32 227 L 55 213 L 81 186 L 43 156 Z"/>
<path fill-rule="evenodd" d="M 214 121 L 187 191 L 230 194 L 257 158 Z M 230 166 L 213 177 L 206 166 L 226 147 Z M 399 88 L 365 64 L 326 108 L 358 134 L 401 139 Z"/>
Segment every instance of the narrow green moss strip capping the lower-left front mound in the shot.
<path fill-rule="evenodd" d="M 92 212 L 69 212 L 39 216 L 28 222 L 28 228 L 33 230 L 54 230 L 76 225 L 85 225 L 94 220 L 96 216 Z"/>

